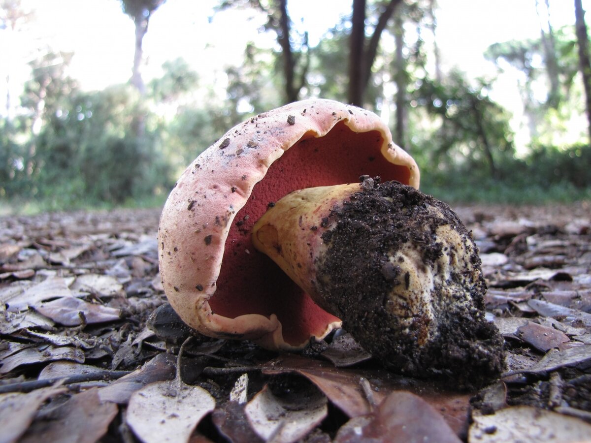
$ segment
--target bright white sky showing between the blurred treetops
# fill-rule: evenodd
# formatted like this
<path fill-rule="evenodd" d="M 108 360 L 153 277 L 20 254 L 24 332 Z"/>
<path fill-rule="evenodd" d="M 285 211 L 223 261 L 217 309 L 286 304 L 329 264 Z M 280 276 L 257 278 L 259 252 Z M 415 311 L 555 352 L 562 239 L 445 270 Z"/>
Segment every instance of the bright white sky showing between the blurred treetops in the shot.
<path fill-rule="evenodd" d="M 539 0 L 543 2 L 543 0 Z M 21 92 L 17 79 L 27 79 L 27 61 L 35 47 L 50 45 L 54 50 L 73 51 L 71 74 L 84 89 L 101 89 L 125 82 L 131 76 L 134 53 L 134 25 L 121 11 L 119 0 L 23 0 L 35 11 L 28 31 L 8 40 L 0 31 L 0 47 L 5 63 L 0 64 L 0 112 L 4 111 L 10 69 L 12 92 Z M 160 74 L 164 61 L 183 57 L 203 82 L 216 82 L 223 67 L 241 60 L 244 44 L 254 40 L 267 47 L 272 35 L 261 34 L 263 20 L 249 19 L 252 12 L 225 11 L 213 15 L 216 0 L 168 0 L 150 20 L 144 39 L 146 80 Z M 311 44 L 350 13 L 348 0 L 290 0 L 291 18 L 297 27 L 310 32 Z M 535 0 L 438 0 L 437 38 L 444 69 L 459 66 L 472 76 L 491 69 L 482 53 L 496 41 L 538 37 L 540 24 Z M 571 0 L 550 0 L 553 25 L 574 22 Z M 591 9 L 591 0 L 583 0 Z M 13 36 L 14 38 L 14 36 Z M 6 49 L 6 51 L 4 50 Z M 8 62 L 8 63 L 6 63 Z"/>

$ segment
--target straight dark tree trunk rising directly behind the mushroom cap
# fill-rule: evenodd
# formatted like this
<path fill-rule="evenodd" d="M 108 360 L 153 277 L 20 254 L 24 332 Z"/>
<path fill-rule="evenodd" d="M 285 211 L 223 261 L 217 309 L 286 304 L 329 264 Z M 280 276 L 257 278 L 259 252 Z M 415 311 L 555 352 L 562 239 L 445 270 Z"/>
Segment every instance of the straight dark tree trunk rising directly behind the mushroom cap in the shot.
<path fill-rule="evenodd" d="M 349 41 L 349 103 L 363 106 L 363 66 L 365 66 L 365 0 L 353 0 Z"/>

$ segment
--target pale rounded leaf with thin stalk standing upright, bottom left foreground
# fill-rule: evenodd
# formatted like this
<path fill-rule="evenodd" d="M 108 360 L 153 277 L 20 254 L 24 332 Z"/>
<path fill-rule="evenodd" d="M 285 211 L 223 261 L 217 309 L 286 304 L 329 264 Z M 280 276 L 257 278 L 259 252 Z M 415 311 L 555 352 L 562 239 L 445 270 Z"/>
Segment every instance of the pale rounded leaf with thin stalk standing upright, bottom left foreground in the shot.
<path fill-rule="evenodd" d="M 201 419 L 216 406 L 205 389 L 176 378 L 155 382 L 134 392 L 126 422 L 145 443 L 189 441 Z"/>

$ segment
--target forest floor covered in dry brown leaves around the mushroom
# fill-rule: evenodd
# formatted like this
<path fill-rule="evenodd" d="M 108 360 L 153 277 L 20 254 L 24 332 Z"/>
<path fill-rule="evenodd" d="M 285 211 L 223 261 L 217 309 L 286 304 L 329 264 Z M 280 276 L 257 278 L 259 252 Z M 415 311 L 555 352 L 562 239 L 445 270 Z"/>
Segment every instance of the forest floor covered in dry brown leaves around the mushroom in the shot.
<path fill-rule="evenodd" d="M 591 204 L 455 209 L 505 338 L 475 392 L 387 372 L 344 332 L 300 354 L 192 334 L 157 210 L 0 218 L 0 440 L 591 441 Z"/>

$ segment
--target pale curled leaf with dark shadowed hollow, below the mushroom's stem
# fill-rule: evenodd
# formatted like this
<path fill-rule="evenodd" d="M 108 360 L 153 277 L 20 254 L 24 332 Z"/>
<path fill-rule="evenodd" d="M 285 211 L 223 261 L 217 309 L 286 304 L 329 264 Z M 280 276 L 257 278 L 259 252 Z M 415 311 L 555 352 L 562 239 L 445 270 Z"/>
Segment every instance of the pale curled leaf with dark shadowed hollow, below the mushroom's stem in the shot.
<path fill-rule="evenodd" d="M 291 443 L 306 437 L 328 413 L 326 397 L 318 390 L 275 396 L 268 386 L 244 408 L 256 434 L 265 441 Z"/>

